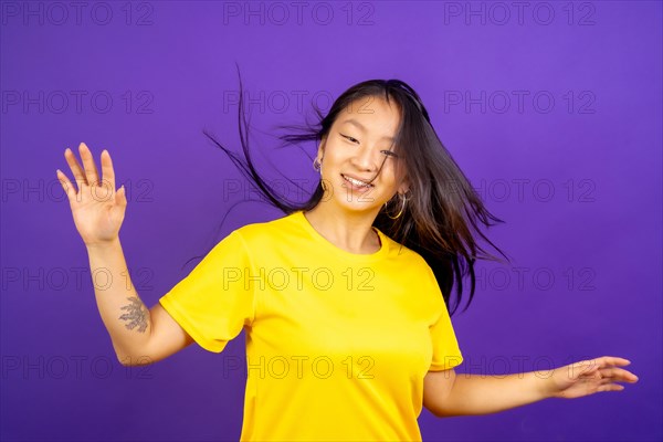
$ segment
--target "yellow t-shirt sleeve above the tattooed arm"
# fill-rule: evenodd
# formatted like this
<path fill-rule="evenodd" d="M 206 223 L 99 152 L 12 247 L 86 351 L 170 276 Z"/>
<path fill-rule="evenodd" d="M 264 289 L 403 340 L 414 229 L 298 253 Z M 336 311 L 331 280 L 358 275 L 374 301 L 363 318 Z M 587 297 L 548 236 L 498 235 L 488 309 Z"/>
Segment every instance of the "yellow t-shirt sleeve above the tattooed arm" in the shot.
<path fill-rule="evenodd" d="M 250 272 L 246 245 L 241 233 L 233 231 L 159 303 L 198 345 L 221 352 L 255 317 Z"/>

